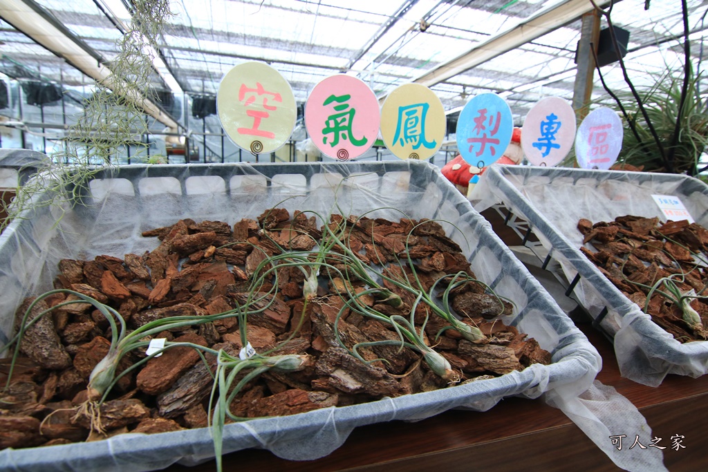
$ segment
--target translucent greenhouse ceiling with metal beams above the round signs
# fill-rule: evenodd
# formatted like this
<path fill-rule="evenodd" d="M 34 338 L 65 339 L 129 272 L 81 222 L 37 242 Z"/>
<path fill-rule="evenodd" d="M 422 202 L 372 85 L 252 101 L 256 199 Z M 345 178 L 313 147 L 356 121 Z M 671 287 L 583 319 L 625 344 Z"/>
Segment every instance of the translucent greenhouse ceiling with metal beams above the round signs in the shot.
<path fill-rule="evenodd" d="M 0 73 L 67 89 L 91 84 L 95 77 L 56 45 L 25 34 L 27 28 L 8 13 L 18 5 L 57 25 L 64 38 L 55 42 L 79 45 L 89 68 L 110 67 L 133 8 L 130 0 L 0 0 Z M 446 110 L 478 93 L 496 92 L 517 122 L 539 98 L 572 100 L 581 16 L 593 11 L 590 0 L 173 0 L 170 5 L 173 16 L 154 45 L 159 53 L 154 83 L 164 91 L 213 96 L 231 67 L 257 59 L 285 76 L 300 103 L 321 79 L 346 73 L 360 77 L 380 98 L 417 81 L 430 86 Z M 687 11 L 691 62 L 701 71 L 708 1 L 687 0 Z M 27 18 L 36 23 L 34 16 Z M 629 31 L 625 62 L 634 84 L 653 84 L 666 69 L 682 66 L 681 1 L 619 1 L 611 19 Z M 602 18 L 600 26 L 606 25 Z M 601 72 L 612 90 L 627 88 L 616 62 Z M 597 72 L 594 84 L 593 98 L 603 96 Z"/>

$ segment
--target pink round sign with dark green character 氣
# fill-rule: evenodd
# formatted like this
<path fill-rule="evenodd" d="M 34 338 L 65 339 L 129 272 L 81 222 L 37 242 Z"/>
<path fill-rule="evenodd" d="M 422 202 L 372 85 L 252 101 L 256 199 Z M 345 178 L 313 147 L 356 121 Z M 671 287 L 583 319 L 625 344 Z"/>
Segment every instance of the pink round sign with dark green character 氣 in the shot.
<path fill-rule="evenodd" d="M 322 154 L 347 161 L 364 154 L 379 134 L 379 101 L 363 81 L 338 74 L 314 86 L 305 128 Z"/>

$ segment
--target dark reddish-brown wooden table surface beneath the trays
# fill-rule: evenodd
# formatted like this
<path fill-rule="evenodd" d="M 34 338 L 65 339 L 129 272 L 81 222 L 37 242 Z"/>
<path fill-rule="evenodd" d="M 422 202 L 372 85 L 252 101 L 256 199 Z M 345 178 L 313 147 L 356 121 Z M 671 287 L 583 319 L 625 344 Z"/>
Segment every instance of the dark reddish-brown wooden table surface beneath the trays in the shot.
<path fill-rule="evenodd" d="M 708 376 L 668 376 L 656 388 L 619 376 L 612 345 L 589 325 L 581 329 L 603 357 L 598 380 L 614 386 L 641 411 L 661 437 L 671 471 L 708 470 Z M 634 441 L 634 432 L 625 441 Z M 670 437 L 685 437 L 685 449 L 670 449 Z M 610 439 L 607 439 L 610 441 Z M 645 446 L 646 440 L 642 442 Z M 627 447 L 631 442 L 627 444 Z M 705 449 L 704 449 L 705 448 Z M 571 465 L 572 464 L 572 465 Z M 244 471 L 619 471 L 560 410 L 542 400 L 507 398 L 491 410 L 447 411 L 420 422 L 392 421 L 356 428 L 342 447 L 316 461 L 285 461 L 249 449 L 224 456 L 224 470 Z M 215 462 L 174 465 L 169 471 L 215 471 Z"/>

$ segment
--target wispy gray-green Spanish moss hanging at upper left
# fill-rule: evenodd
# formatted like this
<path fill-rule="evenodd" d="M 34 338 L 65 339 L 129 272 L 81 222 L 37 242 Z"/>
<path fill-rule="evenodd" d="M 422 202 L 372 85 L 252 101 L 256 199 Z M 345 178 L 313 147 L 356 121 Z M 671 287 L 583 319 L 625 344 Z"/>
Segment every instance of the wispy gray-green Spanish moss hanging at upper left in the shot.
<path fill-rule="evenodd" d="M 148 87 L 155 74 L 150 51 L 161 42 L 171 11 L 169 0 L 131 4 L 134 12 L 116 43 L 118 54 L 107 64 L 110 74 L 96 83 L 96 91 L 84 101 L 81 116 L 64 137 L 64 150 L 40 163 L 33 178 L 15 190 L 11 202 L 2 200 L 8 214 L 2 225 L 18 217 L 32 218 L 31 210 L 40 207 L 64 212 L 80 204 L 91 177 L 115 164 L 122 147 L 133 146 L 136 154 L 145 154 L 149 146 L 141 139 L 148 132 L 145 107 L 154 100 Z"/>

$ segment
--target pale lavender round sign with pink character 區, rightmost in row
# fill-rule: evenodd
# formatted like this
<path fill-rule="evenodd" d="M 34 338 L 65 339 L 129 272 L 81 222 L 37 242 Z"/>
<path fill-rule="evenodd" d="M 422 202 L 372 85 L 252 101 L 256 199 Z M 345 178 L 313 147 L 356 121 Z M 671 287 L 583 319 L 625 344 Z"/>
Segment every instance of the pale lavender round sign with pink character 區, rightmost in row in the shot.
<path fill-rule="evenodd" d="M 575 146 L 578 165 L 607 171 L 617 161 L 622 137 L 622 120 L 614 110 L 606 107 L 593 110 L 578 127 Z"/>

